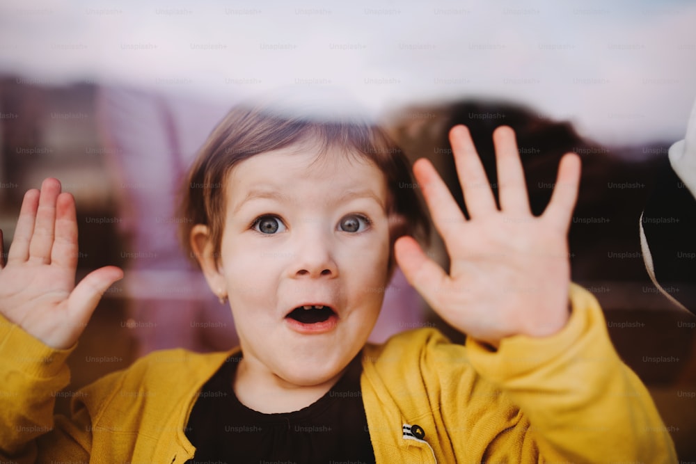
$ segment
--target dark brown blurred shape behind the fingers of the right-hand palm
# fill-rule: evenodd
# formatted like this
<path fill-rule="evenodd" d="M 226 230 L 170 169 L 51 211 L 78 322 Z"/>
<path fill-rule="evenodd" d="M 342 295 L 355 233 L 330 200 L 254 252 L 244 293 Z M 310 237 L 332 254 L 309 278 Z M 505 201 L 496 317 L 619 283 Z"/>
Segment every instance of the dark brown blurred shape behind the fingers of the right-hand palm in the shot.
<path fill-rule="evenodd" d="M 645 157 L 661 147 L 608 147 L 587 141 L 569 122 L 557 121 L 506 102 L 464 100 L 454 104 L 403 112 L 395 136 L 415 159 L 427 156 L 443 173 L 459 207 L 461 189 L 456 179 L 448 127 L 466 125 L 476 142 L 491 188 L 498 196 L 498 180 L 491 135 L 498 125 L 509 125 L 517 135 L 525 167 L 530 207 L 541 214 L 551 198 L 555 168 L 563 154 L 576 152 L 583 161 L 578 204 L 569 232 L 571 266 L 578 282 L 613 280 L 644 282 L 640 239 L 636 230 L 640 214 L 656 184 L 655 173 L 667 169 L 667 160 Z M 427 118 L 409 118 L 409 115 Z"/>

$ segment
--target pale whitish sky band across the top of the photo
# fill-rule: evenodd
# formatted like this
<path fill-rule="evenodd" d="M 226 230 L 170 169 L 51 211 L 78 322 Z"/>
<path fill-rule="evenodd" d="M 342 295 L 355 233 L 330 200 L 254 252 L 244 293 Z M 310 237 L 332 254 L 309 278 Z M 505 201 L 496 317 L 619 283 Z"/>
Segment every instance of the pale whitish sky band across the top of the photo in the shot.
<path fill-rule="evenodd" d="M 15 3 L 0 73 L 36 83 L 341 88 L 375 113 L 507 98 L 613 144 L 682 138 L 696 97 L 693 1 Z"/>

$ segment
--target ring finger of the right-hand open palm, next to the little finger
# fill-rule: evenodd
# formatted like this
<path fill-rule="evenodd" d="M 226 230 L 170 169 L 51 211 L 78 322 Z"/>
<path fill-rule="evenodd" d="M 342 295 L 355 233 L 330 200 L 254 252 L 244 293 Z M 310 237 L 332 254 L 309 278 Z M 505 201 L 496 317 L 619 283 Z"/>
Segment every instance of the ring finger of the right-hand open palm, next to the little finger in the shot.
<path fill-rule="evenodd" d="M 507 126 L 498 127 L 493 131 L 493 145 L 496 147 L 500 209 L 515 214 L 531 214 L 515 132 Z"/>

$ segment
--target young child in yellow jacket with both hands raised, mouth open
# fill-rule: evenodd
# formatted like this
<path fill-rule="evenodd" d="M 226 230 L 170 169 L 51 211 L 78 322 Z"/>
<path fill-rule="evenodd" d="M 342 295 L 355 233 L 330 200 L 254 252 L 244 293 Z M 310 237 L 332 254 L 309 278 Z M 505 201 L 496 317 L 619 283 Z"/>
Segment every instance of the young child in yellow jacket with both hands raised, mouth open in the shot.
<path fill-rule="evenodd" d="M 578 158 L 530 213 L 514 133 L 494 134 L 499 204 L 466 127 L 450 132 L 468 218 L 432 165 L 379 129 L 269 107 L 233 109 L 187 182 L 184 234 L 240 347 L 152 353 L 75 395 L 65 358 L 106 267 L 74 286 L 74 200 L 26 193 L 0 271 L 0 454 L 10 462 L 676 462 L 647 390 L 619 360 L 594 298 L 569 281 Z M 422 189 L 450 255 L 411 237 Z M 1 241 L 0 241 L 1 242 Z M 397 263 L 468 335 L 410 330 L 365 344 Z"/>

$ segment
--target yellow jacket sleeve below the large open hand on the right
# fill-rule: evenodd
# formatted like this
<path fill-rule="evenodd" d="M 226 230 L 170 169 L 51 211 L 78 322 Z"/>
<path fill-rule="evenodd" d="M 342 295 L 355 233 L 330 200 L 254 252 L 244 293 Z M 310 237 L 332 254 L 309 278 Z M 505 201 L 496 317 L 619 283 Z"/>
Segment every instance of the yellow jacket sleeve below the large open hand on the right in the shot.
<path fill-rule="evenodd" d="M 537 448 L 540 462 L 677 462 L 649 392 L 610 342 L 599 303 L 576 285 L 571 300 L 569 323 L 550 337 L 509 337 L 498 351 L 467 340 L 473 367 L 525 417 L 493 439 L 489 462 L 513 442 Z"/>

